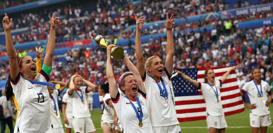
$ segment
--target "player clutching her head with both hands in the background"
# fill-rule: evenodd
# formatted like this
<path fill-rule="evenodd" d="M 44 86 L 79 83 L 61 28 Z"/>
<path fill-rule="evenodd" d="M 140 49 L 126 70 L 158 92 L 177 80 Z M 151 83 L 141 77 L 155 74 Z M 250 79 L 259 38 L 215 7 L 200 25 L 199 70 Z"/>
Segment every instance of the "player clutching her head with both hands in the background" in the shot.
<path fill-rule="evenodd" d="M 87 87 L 81 87 L 82 82 Z M 73 75 L 70 79 L 68 90 L 72 105 L 72 125 L 76 133 L 95 133 L 95 126 L 90 118 L 91 114 L 87 105 L 86 93 L 93 90 L 96 86 L 85 80 L 80 75 Z"/>

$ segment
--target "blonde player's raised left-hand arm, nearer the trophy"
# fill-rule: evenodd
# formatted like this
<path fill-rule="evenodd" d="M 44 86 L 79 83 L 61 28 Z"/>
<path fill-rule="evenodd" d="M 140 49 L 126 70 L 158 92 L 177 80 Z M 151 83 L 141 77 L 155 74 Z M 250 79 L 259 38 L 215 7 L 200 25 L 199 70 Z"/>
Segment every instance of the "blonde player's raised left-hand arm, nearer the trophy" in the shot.
<path fill-rule="evenodd" d="M 136 17 L 136 14 L 134 14 L 134 17 L 136 19 L 136 68 L 139 71 L 141 77 L 144 77 L 145 74 L 145 60 L 142 53 L 142 46 L 141 46 L 141 23 L 144 23 L 146 20 L 143 19 L 145 16 L 142 16 L 140 18 Z"/>

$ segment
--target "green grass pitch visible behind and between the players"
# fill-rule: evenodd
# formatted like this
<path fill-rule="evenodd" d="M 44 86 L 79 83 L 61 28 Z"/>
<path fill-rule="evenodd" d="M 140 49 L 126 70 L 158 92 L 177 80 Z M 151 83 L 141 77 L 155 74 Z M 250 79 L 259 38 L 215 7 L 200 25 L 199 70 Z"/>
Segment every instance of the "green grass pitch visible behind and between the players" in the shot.
<path fill-rule="evenodd" d="M 270 115 L 273 118 L 273 104 L 270 104 Z M 61 119 L 64 126 L 63 115 L 61 113 Z M 101 110 L 95 109 L 91 112 L 91 119 L 97 129 L 97 133 L 103 133 L 101 129 Z M 250 122 L 249 122 L 249 109 L 245 108 L 244 112 L 239 114 L 234 114 L 231 116 L 226 116 L 226 122 L 228 128 L 226 128 L 226 133 L 251 133 Z M 15 122 L 14 122 L 15 125 Z M 206 120 L 198 120 L 192 122 L 180 122 L 180 127 L 182 133 L 206 133 L 207 132 L 207 123 Z M 9 129 L 6 126 L 5 133 L 9 133 Z M 72 133 L 74 131 L 72 130 Z M 273 133 L 273 124 L 268 127 L 267 133 Z"/>

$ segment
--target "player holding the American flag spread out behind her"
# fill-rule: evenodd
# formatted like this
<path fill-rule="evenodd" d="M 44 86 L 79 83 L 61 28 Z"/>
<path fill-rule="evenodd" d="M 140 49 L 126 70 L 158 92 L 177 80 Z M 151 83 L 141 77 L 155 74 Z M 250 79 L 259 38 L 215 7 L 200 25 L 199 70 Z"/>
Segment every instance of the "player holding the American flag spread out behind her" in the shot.
<path fill-rule="evenodd" d="M 201 90 L 205 102 L 206 102 L 206 112 L 207 112 L 207 129 L 209 133 L 224 133 L 227 127 L 226 119 L 224 115 L 224 110 L 221 104 L 221 94 L 220 87 L 222 83 L 226 80 L 228 75 L 236 67 L 233 66 L 228 70 L 220 80 L 215 81 L 215 74 L 212 69 L 205 70 L 204 80 L 205 83 L 197 82 L 186 74 L 175 70 L 182 78 L 193 84 L 199 90 Z"/>

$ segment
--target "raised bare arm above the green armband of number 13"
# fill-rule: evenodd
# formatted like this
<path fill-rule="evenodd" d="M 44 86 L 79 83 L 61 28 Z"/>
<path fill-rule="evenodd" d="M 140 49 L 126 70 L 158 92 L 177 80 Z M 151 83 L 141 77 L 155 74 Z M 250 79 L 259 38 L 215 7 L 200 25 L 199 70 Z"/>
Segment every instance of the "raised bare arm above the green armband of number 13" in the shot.
<path fill-rule="evenodd" d="M 47 48 L 45 50 L 45 59 L 44 59 L 44 64 L 47 66 L 52 66 L 52 58 L 53 58 L 53 53 L 55 49 L 55 31 L 57 24 L 60 23 L 61 21 L 58 20 L 60 19 L 59 17 L 54 18 L 55 15 L 53 13 L 52 17 L 49 17 L 50 20 L 50 32 L 49 32 L 49 38 L 47 42 Z"/>

